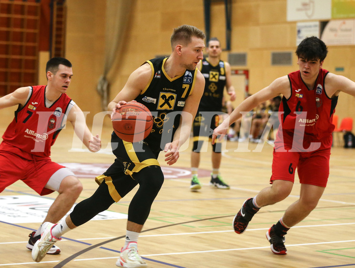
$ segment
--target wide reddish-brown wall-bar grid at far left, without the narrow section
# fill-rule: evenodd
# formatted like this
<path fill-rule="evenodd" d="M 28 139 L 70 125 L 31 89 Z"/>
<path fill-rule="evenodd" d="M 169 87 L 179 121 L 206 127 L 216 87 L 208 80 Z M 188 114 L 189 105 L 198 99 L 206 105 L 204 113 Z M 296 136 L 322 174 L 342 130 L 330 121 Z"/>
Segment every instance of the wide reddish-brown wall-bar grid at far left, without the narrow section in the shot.
<path fill-rule="evenodd" d="M 0 1 L 0 95 L 38 80 L 39 1 Z"/>

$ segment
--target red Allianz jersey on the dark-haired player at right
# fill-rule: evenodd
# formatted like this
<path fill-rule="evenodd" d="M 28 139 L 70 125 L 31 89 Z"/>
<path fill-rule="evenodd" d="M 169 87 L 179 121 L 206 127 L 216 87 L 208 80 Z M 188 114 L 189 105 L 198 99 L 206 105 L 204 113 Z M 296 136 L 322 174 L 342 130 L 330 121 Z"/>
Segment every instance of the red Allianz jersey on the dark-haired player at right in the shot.
<path fill-rule="evenodd" d="M 319 69 L 319 74 L 314 88 L 308 88 L 301 78 L 301 72 L 288 74 L 291 87 L 291 96 L 282 98 L 280 105 L 280 127 L 283 130 L 285 142 L 288 137 L 303 134 L 309 141 L 320 140 L 329 137 L 335 126 L 333 114 L 338 97 L 330 98 L 324 90 L 324 79 L 329 72 Z M 280 133 L 281 134 L 281 133 Z"/>

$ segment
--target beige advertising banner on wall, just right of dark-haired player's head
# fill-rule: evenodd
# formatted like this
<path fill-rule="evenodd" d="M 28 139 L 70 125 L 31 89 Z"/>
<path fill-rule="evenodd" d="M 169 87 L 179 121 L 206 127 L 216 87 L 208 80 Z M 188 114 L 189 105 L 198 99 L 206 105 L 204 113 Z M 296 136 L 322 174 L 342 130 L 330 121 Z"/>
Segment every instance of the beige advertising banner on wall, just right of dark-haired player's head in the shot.
<path fill-rule="evenodd" d="M 320 39 L 326 45 L 354 45 L 355 19 L 321 22 Z"/>

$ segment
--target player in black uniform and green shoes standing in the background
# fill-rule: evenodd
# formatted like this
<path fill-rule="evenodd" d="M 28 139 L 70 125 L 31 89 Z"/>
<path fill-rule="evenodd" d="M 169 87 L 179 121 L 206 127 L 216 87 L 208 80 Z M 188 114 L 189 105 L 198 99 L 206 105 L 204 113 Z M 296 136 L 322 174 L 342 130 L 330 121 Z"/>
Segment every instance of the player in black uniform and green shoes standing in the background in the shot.
<path fill-rule="evenodd" d="M 222 102 L 223 90 L 226 87 L 230 100 L 235 100 L 235 91 L 231 82 L 230 65 L 221 61 L 222 48 L 217 38 L 211 38 L 206 48 L 208 57 L 199 62 L 197 68 L 205 78 L 204 92 L 198 106 L 198 112 L 193 123 L 193 148 L 191 153 L 191 173 L 192 180 L 190 189 L 192 191 L 201 188 L 197 177 L 200 163 L 200 152 L 203 141 L 212 138 L 213 130 L 223 121 Z M 219 115 L 218 115 L 219 114 Z M 211 131 L 212 130 L 212 131 Z M 219 168 L 221 165 L 221 143 L 213 145 L 212 152 L 212 174 L 210 185 L 218 189 L 229 189 L 223 182 Z"/>

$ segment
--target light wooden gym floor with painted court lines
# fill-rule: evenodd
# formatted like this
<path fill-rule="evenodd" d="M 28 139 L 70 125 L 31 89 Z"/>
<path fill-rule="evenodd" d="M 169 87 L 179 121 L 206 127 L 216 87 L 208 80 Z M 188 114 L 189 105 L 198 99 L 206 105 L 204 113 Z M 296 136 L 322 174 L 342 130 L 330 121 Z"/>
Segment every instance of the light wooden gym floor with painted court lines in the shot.
<path fill-rule="evenodd" d="M 8 122 L 7 122 L 8 123 Z M 7 124 L 1 128 L 5 131 Z M 103 148 L 107 147 L 111 128 L 104 128 Z M 94 133 L 96 134 L 96 133 Z M 52 147 L 52 159 L 59 163 L 82 163 L 84 186 L 77 202 L 96 190 L 94 177 L 114 160 L 110 150 L 101 153 L 77 152 L 72 146 L 73 130 L 63 130 Z M 180 159 L 167 167 L 164 185 L 153 203 L 151 214 L 139 238 L 139 253 L 151 268 L 205 267 L 347 267 L 355 266 L 355 150 L 333 147 L 328 187 L 317 208 L 286 236 L 287 255 L 271 252 L 265 232 L 283 215 L 288 205 L 298 199 L 298 178 L 288 198 L 264 207 L 251 221 L 244 234 L 232 230 L 232 219 L 245 199 L 269 186 L 272 146 L 264 144 L 259 152 L 233 152 L 238 142 L 226 144 L 221 174 L 231 186 L 219 190 L 209 186 L 211 146 L 201 155 L 200 181 L 202 189 L 191 192 L 191 142 L 181 152 Z M 249 144 L 249 149 L 256 144 Z M 106 153 L 105 153 L 106 152 Z M 101 168 L 101 169 L 100 169 Z M 136 188 L 109 211 L 127 214 Z M 53 200 L 57 194 L 39 197 L 22 182 L 17 182 L 0 194 L 37 197 Z M 4 207 L 0 205 L 1 219 Z M 0 266 L 5 267 L 115 267 L 124 244 L 126 219 L 92 220 L 66 233 L 56 243 L 59 255 L 47 255 L 36 263 L 25 248 L 27 235 L 41 221 L 11 223 L 0 220 Z"/>

